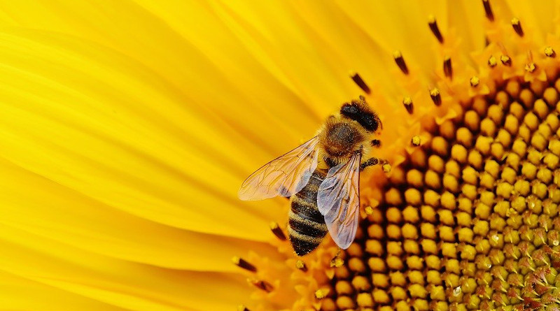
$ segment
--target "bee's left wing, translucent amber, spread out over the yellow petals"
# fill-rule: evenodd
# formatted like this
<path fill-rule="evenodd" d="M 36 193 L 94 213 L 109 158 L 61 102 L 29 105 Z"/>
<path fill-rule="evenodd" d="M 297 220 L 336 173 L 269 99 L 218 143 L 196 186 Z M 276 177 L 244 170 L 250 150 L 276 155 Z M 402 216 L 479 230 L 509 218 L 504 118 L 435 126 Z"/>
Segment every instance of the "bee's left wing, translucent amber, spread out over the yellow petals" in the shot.
<path fill-rule="evenodd" d="M 311 178 L 318 161 L 318 137 L 278 157 L 251 174 L 241 185 L 238 196 L 244 201 L 274 196 L 293 196 Z"/>

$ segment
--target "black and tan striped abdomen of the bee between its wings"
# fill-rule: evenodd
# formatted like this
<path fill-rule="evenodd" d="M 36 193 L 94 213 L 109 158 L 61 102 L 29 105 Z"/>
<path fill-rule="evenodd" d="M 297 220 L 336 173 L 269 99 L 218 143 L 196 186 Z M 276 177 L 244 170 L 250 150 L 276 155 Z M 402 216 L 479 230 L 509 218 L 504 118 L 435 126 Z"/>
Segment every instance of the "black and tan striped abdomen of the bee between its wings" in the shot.
<path fill-rule="evenodd" d="M 291 197 L 288 236 L 298 256 L 315 249 L 327 234 L 325 218 L 317 208 L 318 188 L 326 175 L 327 171 L 317 169 L 307 185 Z"/>

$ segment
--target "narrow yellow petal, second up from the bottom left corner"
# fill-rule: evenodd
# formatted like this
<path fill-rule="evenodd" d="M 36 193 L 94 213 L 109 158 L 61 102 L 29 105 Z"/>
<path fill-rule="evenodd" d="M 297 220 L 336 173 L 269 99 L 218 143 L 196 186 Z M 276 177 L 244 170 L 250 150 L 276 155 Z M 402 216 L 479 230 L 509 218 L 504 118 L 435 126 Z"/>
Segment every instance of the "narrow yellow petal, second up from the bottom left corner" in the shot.
<path fill-rule="evenodd" d="M 0 235 L 1 270 L 120 308 L 228 310 L 239 296 L 248 294 L 242 279 L 228 273 L 197 273 L 111 259 L 8 225 L 1 226 Z M 218 292 L 215 284 L 228 290 Z"/>

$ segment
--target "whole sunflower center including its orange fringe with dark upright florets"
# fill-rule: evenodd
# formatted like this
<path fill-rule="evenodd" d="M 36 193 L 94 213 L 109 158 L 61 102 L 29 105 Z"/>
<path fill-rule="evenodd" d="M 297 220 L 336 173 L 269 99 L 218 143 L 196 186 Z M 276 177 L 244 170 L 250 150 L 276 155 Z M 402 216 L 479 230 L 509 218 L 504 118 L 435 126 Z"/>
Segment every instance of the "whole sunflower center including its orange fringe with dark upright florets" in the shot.
<path fill-rule="evenodd" d="M 551 46 L 537 52 L 530 24 L 498 23 L 482 3 L 487 46 L 473 55 L 477 70 L 433 16 L 442 66 L 432 85 L 420 87 L 414 64 L 393 53 L 409 94 L 401 108 L 422 129 L 411 122 L 398 138 L 409 140 L 407 159 L 383 167 L 384 185 L 362 180 L 363 202 L 379 204 L 365 207 L 353 244 L 335 256 L 327 239 L 296 260 L 276 224 L 286 261 L 274 275 L 235 261 L 251 280 L 274 280 L 251 281 L 262 310 L 560 310 L 559 62 Z M 351 79 L 376 95 L 358 73 Z"/>

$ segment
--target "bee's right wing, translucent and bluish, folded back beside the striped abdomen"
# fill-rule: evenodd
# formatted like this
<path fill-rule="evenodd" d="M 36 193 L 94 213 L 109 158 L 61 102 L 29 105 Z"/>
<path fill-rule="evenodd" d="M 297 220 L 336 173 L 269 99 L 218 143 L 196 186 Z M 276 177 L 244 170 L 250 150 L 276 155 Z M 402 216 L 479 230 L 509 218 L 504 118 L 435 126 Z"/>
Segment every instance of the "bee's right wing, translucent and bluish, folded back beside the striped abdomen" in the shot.
<path fill-rule="evenodd" d="M 350 246 L 360 222 L 360 158 L 356 152 L 350 161 L 330 168 L 317 194 L 318 210 L 342 249 Z"/>

